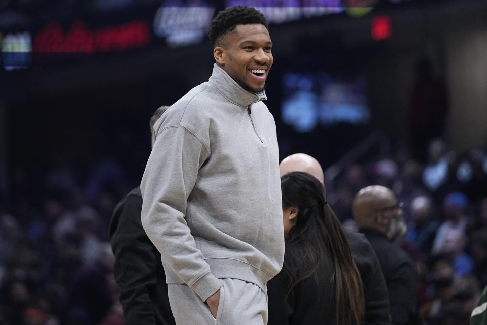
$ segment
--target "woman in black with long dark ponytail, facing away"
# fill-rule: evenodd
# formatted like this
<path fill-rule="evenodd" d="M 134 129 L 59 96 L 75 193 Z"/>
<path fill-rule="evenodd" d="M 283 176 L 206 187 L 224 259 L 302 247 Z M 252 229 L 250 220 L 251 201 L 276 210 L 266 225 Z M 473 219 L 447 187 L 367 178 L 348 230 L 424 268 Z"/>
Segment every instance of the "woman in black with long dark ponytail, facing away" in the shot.
<path fill-rule="evenodd" d="M 292 172 L 281 189 L 286 248 L 282 271 L 267 283 L 268 324 L 361 324 L 362 280 L 323 185 Z"/>

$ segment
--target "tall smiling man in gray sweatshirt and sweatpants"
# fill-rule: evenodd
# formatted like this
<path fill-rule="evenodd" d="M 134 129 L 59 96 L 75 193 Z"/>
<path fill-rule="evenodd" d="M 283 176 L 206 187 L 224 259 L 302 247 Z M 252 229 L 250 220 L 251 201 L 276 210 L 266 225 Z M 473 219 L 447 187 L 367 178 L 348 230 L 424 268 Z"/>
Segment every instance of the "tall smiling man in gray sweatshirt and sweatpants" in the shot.
<path fill-rule="evenodd" d="M 219 12 L 210 41 L 212 76 L 154 126 L 142 224 L 177 324 L 267 324 L 266 283 L 284 257 L 276 130 L 262 103 L 272 42 L 248 7 Z"/>

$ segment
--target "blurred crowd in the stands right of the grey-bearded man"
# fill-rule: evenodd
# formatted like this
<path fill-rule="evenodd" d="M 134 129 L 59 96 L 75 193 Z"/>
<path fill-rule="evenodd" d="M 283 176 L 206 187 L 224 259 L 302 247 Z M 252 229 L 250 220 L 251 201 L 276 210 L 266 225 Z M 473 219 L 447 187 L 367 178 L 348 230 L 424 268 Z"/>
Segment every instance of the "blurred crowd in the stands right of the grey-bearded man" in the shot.
<path fill-rule="evenodd" d="M 433 139 L 425 161 L 397 148 L 388 157 L 345 168 L 328 201 L 345 227 L 354 229 L 351 203 L 364 186 L 394 190 L 403 202 L 408 231 L 398 244 L 418 271 L 418 302 L 425 324 L 468 324 L 487 285 L 487 155 L 464 154 Z M 332 186 L 331 186 L 332 185 Z"/>

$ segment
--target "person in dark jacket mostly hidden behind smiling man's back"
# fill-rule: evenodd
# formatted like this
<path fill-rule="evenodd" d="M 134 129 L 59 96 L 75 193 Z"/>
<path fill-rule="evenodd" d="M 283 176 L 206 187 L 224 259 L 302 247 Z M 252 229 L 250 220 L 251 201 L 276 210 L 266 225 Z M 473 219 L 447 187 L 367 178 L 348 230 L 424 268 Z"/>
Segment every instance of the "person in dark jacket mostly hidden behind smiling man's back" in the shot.
<path fill-rule="evenodd" d="M 150 128 L 168 109 L 162 106 L 150 120 Z M 115 207 L 109 235 L 115 264 L 113 273 L 127 325 L 172 325 L 172 316 L 161 255 L 141 223 L 142 194 L 134 188 Z"/>

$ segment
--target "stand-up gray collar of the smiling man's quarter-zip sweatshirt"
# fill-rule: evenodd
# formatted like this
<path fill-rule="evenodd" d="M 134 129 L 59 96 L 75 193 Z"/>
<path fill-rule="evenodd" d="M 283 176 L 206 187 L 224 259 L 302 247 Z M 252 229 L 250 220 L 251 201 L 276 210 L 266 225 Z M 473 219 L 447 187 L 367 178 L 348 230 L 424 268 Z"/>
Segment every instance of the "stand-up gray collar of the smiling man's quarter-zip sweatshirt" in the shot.
<path fill-rule="evenodd" d="M 252 93 L 243 89 L 225 70 L 216 63 L 213 64 L 213 73 L 208 82 L 215 86 L 216 90 L 228 101 L 247 108 L 249 105 L 267 99 L 265 90 Z"/>

